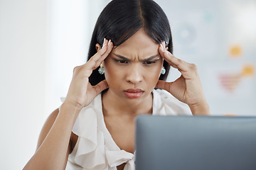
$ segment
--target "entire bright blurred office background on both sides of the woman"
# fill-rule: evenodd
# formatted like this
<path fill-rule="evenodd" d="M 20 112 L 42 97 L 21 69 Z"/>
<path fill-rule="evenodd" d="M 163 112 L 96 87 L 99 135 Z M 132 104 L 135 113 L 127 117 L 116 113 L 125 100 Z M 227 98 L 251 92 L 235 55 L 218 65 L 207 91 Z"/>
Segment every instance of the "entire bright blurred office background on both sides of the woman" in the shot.
<path fill-rule="evenodd" d="M 1 169 L 22 169 L 84 64 L 110 0 L 0 0 Z M 212 115 L 256 115 L 256 1 L 156 0 L 174 55 L 198 65 Z M 169 81 L 179 77 L 171 69 Z"/>

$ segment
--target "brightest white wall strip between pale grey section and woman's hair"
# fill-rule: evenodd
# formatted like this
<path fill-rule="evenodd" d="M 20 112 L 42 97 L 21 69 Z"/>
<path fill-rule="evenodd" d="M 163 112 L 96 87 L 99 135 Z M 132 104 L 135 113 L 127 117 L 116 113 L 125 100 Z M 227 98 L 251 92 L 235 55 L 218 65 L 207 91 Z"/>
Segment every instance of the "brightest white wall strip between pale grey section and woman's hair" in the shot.
<path fill-rule="evenodd" d="M 85 64 L 97 17 L 107 0 L 50 1 L 49 82 L 46 113 L 60 106 L 73 75 L 73 68 Z"/>

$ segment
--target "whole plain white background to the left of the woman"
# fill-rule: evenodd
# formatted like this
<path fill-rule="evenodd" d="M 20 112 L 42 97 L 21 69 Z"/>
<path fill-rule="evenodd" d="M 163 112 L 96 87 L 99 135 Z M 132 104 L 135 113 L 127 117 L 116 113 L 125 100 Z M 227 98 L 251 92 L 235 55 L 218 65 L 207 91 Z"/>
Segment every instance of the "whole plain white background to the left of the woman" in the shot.
<path fill-rule="evenodd" d="M 107 2 L 0 1 L 1 169 L 22 169 L 35 152 Z"/>

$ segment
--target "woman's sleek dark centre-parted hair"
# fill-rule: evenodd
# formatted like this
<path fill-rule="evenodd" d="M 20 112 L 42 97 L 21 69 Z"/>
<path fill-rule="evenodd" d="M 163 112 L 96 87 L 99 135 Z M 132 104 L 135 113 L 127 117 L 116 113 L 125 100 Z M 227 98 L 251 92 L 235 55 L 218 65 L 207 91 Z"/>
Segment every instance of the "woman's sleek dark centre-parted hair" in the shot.
<path fill-rule="evenodd" d="M 140 28 L 143 28 L 149 37 L 156 43 L 163 40 L 169 47 L 169 52 L 173 52 L 171 38 L 171 28 L 168 18 L 161 7 L 152 0 L 113 0 L 100 13 L 95 29 L 92 33 L 88 59 L 97 52 L 95 45 L 103 44 L 103 39 L 112 40 L 114 46 L 121 45 L 124 41 L 132 37 Z M 170 66 L 164 61 L 166 74 L 161 74 L 159 79 L 166 80 Z M 89 77 L 92 86 L 104 80 L 95 69 Z"/>

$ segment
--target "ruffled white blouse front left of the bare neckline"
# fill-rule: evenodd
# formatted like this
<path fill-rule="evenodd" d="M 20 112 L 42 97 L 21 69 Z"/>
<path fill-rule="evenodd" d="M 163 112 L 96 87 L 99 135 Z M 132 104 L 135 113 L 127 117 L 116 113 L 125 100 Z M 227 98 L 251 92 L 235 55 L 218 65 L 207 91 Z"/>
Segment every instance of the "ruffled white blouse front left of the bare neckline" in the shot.
<path fill-rule="evenodd" d="M 105 126 L 101 95 L 80 111 L 73 133 L 78 141 L 69 155 L 67 170 L 116 170 L 124 163 L 124 169 L 135 169 L 134 154 L 119 149 Z"/>

